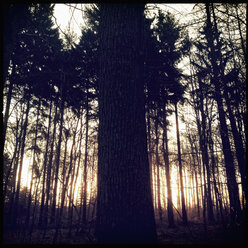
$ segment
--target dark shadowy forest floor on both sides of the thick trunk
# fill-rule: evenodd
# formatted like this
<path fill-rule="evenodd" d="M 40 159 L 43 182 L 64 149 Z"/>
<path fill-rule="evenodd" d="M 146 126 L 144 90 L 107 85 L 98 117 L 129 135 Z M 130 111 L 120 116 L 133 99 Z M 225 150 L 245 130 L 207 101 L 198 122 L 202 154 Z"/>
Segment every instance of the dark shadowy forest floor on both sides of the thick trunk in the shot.
<path fill-rule="evenodd" d="M 23 231 L 5 232 L 3 236 L 4 244 L 52 244 L 55 229 L 48 229 L 43 237 L 43 231 L 34 229 L 32 239 L 29 235 L 23 235 Z M 240 245 L 245 247 L 247 244 L 248 233 L 246 230 L 236 228 L 224 229 L 221 225 L 208 225 L 207 233 L 204 230 L 203 223 L 190 222 L 188 226 L 180 223 L 174 228 L 169 228 L 166 224 L 157 225 L 157 235 L 159 244 L 206 244 L 206 245 Z M 26 238 L 25 238 L 26 237 Z M 93 230 L 89 232 L 76 233 L 72 230 L 68 237 L 68 229 L 61 229 L 58 237 L 58 244 L 96 244 Z"/>

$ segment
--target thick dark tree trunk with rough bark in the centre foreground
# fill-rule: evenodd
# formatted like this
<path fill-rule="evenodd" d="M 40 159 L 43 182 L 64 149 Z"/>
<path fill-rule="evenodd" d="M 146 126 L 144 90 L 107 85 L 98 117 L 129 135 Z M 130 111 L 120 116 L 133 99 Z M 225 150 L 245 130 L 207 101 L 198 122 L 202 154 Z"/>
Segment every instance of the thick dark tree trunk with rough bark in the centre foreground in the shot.
<path fill-rule="evenodd" d="M 155 243 L 143 82 L 144 5 L 100 6 L 99 243 Z"/>

